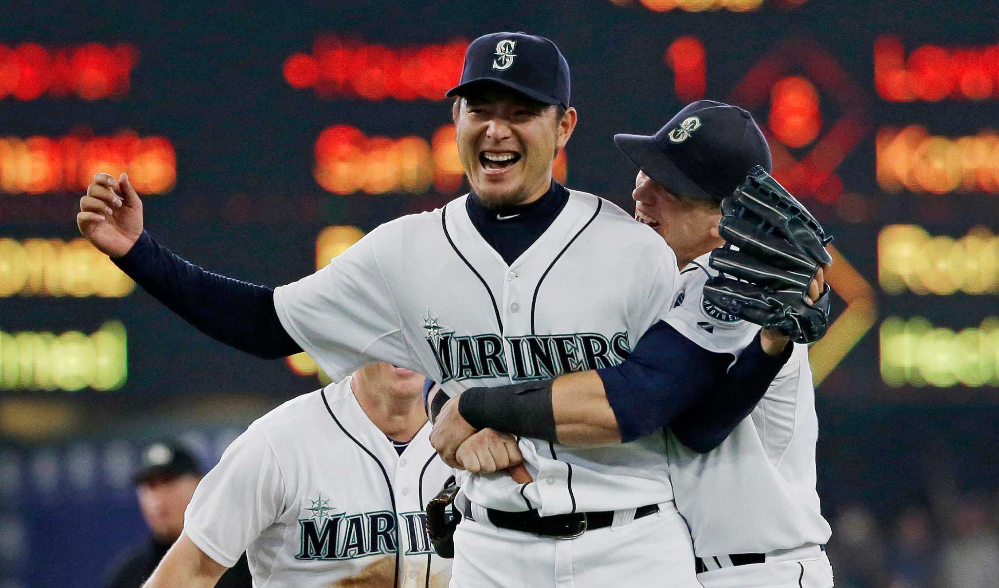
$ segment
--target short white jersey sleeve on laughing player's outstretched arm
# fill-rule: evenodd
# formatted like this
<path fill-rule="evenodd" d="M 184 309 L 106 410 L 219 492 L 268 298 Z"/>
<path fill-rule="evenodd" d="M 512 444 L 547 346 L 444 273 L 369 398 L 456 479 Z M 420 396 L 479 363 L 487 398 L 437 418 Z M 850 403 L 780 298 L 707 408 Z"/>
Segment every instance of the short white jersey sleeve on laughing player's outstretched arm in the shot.
<path fill-rule="evenodd" d="M 379 227 L 326 268 L 274 292 L 285 330 L 334 381 L 374 361 L 420 370 L 383 274 L 393 270 L 377 255 L 378 245 L 395 237 Z"/>

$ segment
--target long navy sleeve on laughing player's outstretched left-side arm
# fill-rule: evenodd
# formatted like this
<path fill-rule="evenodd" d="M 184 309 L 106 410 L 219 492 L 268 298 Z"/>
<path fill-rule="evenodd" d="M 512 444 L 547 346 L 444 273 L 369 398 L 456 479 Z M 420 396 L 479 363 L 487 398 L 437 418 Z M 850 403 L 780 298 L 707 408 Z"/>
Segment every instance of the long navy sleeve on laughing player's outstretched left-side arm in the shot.
<path fill-rule="evenodd" d="M 265 359 L 302 350 L 282 326 L 270 288 L 206 272 L 161 247 L 145 231 L 127 254 L 112 261 L 146 292 L 216 340 Z"/>

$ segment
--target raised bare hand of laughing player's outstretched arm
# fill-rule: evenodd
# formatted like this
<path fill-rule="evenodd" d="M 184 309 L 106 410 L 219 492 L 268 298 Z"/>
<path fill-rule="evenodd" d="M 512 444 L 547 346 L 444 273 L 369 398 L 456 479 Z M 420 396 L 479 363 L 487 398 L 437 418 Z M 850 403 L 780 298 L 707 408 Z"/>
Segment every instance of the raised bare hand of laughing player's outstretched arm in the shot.
<path fill-rule="evenodd" d="M 97 174 L 80 199 L 76 226 L 101 253 L 112 258 L 127 254 L 142 235 L 142 201 L 122 174 L 117 180 Z"/>

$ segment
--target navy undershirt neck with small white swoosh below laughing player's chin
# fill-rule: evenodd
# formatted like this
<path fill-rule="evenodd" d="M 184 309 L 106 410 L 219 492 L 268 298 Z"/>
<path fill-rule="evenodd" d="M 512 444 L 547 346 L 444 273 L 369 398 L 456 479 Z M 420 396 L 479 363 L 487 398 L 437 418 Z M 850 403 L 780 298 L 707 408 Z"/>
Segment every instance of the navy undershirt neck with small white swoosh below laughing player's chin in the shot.
<path fill-rule="evenodd" d="M 465 208 L 486 243 L 511 266 L 554 223 L 567 202 L 568 190 L 552 180 L 547 192 L 530 204 L 491 208 L 472 192 Z"/>

